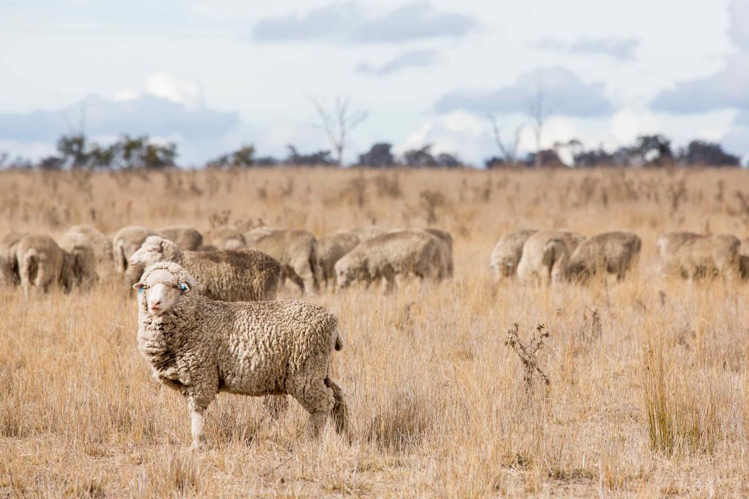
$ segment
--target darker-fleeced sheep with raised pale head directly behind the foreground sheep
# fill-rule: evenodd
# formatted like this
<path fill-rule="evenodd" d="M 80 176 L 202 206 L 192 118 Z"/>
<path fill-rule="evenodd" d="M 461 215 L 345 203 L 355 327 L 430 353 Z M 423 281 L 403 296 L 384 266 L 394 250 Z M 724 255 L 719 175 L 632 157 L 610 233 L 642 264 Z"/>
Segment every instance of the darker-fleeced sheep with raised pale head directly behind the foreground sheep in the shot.
<path fill-rule="evenodd" d="M 130 266 L 146 268 L 161 261 L 187 268 L 200 281 L 200 293 L 210 299 L 276 299 L 281 266 L 261 251 L 182 251 L 169 239 L 148 236 L 130 257 Z"/>

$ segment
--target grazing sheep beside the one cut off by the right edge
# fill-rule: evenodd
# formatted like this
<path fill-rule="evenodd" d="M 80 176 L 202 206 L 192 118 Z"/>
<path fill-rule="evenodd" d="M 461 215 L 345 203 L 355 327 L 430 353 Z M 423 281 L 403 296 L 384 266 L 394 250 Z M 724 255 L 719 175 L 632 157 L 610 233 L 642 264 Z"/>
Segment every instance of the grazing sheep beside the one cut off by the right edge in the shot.
<path fill-rule="evenodd" d="M 656 242 L 663 277 L 692 281 L 723 275 L 732 280 L 741 273 L 741 242 L 730 234 L 703 236 L 691 232 L 661 234 Z"/>

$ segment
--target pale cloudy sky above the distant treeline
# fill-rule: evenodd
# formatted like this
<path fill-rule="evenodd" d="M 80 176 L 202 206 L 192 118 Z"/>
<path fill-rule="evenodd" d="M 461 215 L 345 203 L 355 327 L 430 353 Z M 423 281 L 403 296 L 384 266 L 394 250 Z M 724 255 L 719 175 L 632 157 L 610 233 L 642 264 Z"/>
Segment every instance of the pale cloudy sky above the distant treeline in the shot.
<path fill-rule="evenodd" d="M 550 111 L 544 147 L 663 133 L 749 161 L 749 0 L 0 0 L 0 151 L 64 133 L 174 141 L 182 165 L 254 144 L 330 149 L 312 100 L 350 97 L 375 142 L 482 165 Z"/>

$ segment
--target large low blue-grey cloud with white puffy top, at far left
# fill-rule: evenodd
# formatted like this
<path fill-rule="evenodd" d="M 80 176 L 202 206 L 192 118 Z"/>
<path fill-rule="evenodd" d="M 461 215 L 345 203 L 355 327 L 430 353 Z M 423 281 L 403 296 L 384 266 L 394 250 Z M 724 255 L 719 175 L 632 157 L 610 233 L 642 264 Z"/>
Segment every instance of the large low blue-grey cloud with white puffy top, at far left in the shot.
<path fill-rule="evenodd" d="M 91 95 L 59 110 L 0 113 L 0 142 L 41 150 L 39 144 L 54 144 L 71 132 L 105 143 L 123 133 L 145 134 L 176 141 L 183 162 L 199 162 L 225 152 L 227 138 L 240 126 L 237 113 L 200 102 L 196 86 L 175 85 L 160 74 L 147 80 L 145 91 L 123 91 L 114 99 Z"/>

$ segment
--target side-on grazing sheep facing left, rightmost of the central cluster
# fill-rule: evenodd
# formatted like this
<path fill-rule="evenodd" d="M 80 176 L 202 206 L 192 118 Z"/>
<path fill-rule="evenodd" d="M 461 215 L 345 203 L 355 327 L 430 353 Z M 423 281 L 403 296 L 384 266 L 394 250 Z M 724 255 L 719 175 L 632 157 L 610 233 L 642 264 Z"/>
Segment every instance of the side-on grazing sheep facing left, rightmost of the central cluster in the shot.
<path fill-rule="evenodd" d="M 439 278 L 440 245 L 437 238 L 422 231 L 402 230 L 367 239 L 336 262 L 336 281 L 339 288 L 354 281 L 367 286 L 384 278 L 386 290 L 395 286 L 395 275 L 416 275 L 421 279 Z"/>

